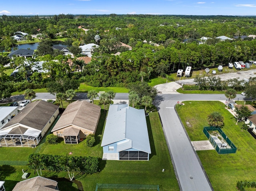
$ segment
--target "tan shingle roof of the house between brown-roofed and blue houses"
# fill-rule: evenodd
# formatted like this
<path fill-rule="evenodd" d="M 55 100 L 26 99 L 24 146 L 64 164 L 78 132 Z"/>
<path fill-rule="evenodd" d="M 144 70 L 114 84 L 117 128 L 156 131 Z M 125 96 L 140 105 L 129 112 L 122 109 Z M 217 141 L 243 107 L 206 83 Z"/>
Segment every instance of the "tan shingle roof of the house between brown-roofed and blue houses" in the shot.
<path fill-rule="evenodd" d="M 60 116 L 52 132 L 70 125 L 94 132 L 97 128 L 98 119 L 100 118 L 100 110 L 100 106 L 87 102 L 86 100 L 72 102 Z"/>

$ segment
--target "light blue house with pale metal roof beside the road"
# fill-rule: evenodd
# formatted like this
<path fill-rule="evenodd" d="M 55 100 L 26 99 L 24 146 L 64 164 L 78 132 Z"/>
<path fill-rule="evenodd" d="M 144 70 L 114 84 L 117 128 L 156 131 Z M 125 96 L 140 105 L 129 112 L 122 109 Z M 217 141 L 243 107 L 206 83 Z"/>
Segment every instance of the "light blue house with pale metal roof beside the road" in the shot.
<path fill-rule="evenodd" d="M 128 104 L 110 104 L 101 146 L 104 160 L 149 160 L 144 110 Z"/>

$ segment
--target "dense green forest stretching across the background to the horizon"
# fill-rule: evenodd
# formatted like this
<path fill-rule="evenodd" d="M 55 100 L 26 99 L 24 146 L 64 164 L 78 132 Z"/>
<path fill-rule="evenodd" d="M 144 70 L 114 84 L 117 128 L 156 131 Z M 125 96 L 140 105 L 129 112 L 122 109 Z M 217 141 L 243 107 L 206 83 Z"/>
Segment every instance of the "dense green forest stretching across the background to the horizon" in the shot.
<path fill-rule="evenodd" d="M 79 29 L 89 29 L 84 31 Z M 216 38 L 225 35 L 256 35 L 256 18 L 237 16 L 155 16 L 155 15 L 54 15 L 54 16 L 6 16 L 0 18 L 0 51 L 10 51 L 16 41 L 14 32 L 29 35 L 41 33 L 42 39 L 65 37 L 65 43 L 75 57 L 63 56 L 48 49 L 50 43 L 40 42 L 36 59 L 44 60 L 49 73 L 33 73 L 10 79 L 4 75 L 0 58 L 1 83 L 14 80 L 30 87 L 46 87 L 51 81 L 74 79 L 94 87 L 127 87 L 130 83 L 148 81 L 156 76 L 185 69 L 190 65 L 195 69 L 227 65 L 234 61 L 256 59 L 256 40 L 252 37 L 221 41 Z M 202 41 L 201 37 L 208 37 Z M 187 39 L 186 43 L 183 41 Z M 132 46 L 132 50 L 122 47 L 120 42 Z M 81 56 L 79 45 L 96 43 L 92 61 L 75 62 Z M 41 49 L 40 49 L 41 48 Z M 114 53 L 121 52 L 119 56 Z M 58 60 L 53 62 L 52 60 Z M 74 61 L 68 68 L 68 59 Z M 21 65 L 20 60 L 14 62 Z M 22 61 L 23 63 L 23 61 Z M 83 70 L 74 75 L 74 69 Z M 24 82 L 25 81 L 25 82 Z M 26 82 L 27 81 L 27 82 Z M 28 83 L 30 83 L 28 85 Z M 24 86 L 24 85 L 23 85 Z M 2 86 L 4 87 L 4 86 Z"/>

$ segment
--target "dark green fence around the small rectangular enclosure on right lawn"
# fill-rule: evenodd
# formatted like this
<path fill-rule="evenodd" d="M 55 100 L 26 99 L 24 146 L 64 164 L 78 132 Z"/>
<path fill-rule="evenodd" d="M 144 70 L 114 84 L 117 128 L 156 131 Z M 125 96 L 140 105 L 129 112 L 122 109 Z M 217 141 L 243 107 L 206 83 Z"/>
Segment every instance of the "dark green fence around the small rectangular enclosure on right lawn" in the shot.
<path fill-rule="evenodd" d="M 230 146 L 230 148 L 222 148 L 216 144 L 215 140 L 212 138 L 212 136 L 209 134 L 208 131 L 218 131 L 220 135 L 224 138 L 226 143 Z M 226 136 L 226 134 L 222 131 L 221 128 L 219 127 L 204 127 L 203 130 L 204 134 L 206 137 L 209 139 L 211 142 L 212 146 L 215 148 L 215 150 L 218 152 L 218 154 L 229 154 L 229 153 L 236 153 L 236 146 L 232 143 L 232 141 Z"/>

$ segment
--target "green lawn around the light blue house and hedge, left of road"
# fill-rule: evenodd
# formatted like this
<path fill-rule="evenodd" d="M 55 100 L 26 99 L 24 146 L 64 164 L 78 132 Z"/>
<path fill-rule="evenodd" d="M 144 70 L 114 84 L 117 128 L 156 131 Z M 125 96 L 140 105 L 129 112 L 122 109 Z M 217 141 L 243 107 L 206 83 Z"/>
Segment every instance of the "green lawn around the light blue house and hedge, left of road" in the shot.
<path fill-rule="evenodd" d="M 96 100 L 95 103 L 99 104 L 98 100 Z M 103 105 L 101 106 L 103 108 Z M 106 108 L 108 109 L 108 105 Z M 72 152 L 72 155 L 97 156 L 100 158 L 100 171 L 98 173 L 92 175 L 76 174 L 76 179 L 82 182 L 84 190 L 86 191 L 94 191 L 96 188 L 96 183 L 148 184 L 159 185 L 160 191 L 179 190 L 158 113 L 150 112 L 149 117 L 147 117 L 152 152 L 152 154 L 150 154 L 149 161 L 101 161 L 103 151 L 100 143 L 106 114 L 107 111 L 102 110 L 101 118 L 96 130 L 96 145 L 92 148 L 87 147 L 85 141 L 80 142 L 78 145 L 64 144 L 63 141 L 60 141 L 60 143 L 57 145 L 49 145 L 42 142 L 41 145 L 34 149 L 0 148 L 0 158 L 2 159 L 2 156 L 4 156 L 5 160 L 14 161 L 18 160 L 19 156 L 22 156 L 20 160 L 26 160 L 27 156 L 32 152 L 58 155 L 66 155 L 67 153 Z M 15 153 L 17 150 L 17 154 L 8 154 L 8 152 Z M 2 179 L 6 181 L 6 184 L 8 184 L 6 187 L 7 191 L 12 190 L 14 185 L 16 185 L 18 181 L 21 181 L 22 169 L 31 173 L 30 178 L 37 176 L 37 173 L 34 174 L 34 171 L 29 169 L 28 166 L 7 165 L 2 175 Z M 162 169 L 165 169 L 165 171 L 162 172 Z M 42 176 L 68 178 L 67 172 L 42 171 Z M 62 184 L 62 182 L 60 182 L 58 185 L 60 184 Z M 76 190 L 74 187 L 74 185 L 67 185 L 64 187 L 64 189 L 62 187 L 60 190 Z"/>

